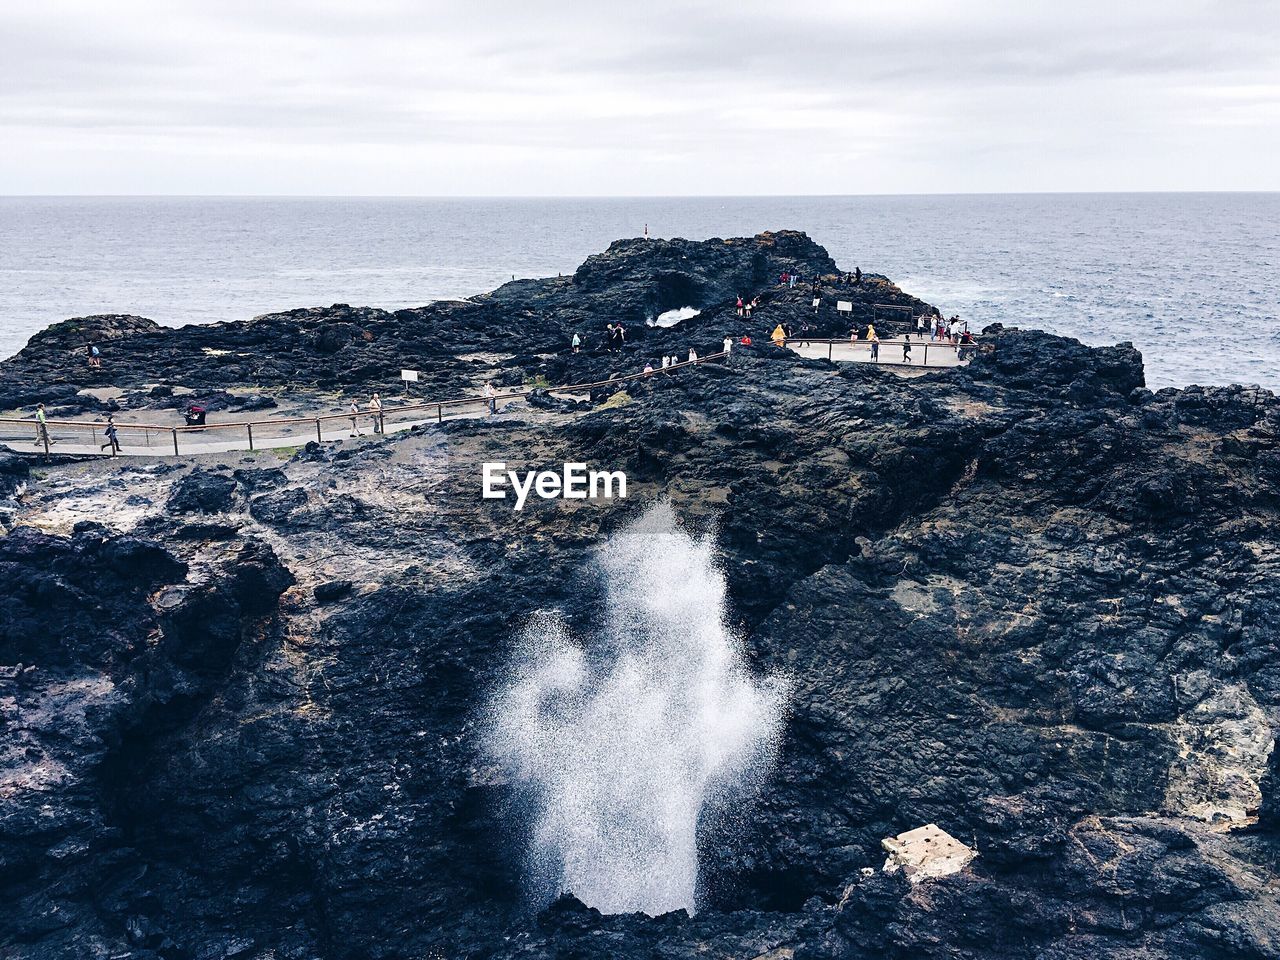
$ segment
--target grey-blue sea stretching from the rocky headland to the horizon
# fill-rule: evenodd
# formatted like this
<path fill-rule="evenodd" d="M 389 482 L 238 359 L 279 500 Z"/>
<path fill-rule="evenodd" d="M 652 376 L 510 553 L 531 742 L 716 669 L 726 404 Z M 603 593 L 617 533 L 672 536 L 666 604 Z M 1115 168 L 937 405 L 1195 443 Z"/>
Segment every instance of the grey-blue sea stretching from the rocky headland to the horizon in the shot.
<path fill-rule="evenodd" d="M 1158 387 L 1280 390 L 1280 193 L 0 198 L 0 356 L 84 314 L 403 307 L 572 271 L 620 237 L 808 232 L 970 326 L 1132 340 Z"/>

